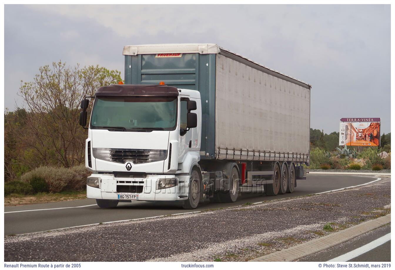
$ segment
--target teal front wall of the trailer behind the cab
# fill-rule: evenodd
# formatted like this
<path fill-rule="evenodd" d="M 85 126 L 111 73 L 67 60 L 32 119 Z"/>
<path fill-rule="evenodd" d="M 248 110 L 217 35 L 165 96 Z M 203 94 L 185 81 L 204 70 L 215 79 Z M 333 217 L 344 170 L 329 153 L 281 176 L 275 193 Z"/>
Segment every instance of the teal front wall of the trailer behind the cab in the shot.
<path fill-rule="evenodd" d="M 216 54 L 183 53 L 181 57 L 156 54 L 125 55 L 125 84 L 159 84 L 198 90 L 202 102 L 201 159 L 215 158 Z"/>

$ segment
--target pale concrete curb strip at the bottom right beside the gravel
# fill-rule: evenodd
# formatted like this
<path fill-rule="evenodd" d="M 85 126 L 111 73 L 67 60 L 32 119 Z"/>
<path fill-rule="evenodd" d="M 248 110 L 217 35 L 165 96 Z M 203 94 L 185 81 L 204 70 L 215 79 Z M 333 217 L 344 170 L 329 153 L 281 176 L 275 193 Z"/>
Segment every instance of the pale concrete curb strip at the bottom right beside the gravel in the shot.
<path fill-rule="evenodd" d="M 359 235 L 363 235 L 373 229 L 377 229 L 382 225 L 386 225 L 391 222 L 391 214 L 376 218 L 374 220 L 368 220 L 367 222 L 360 223 L 350 228 L 344 229 L 337 233 L 331 233 L 324 237 L 316 238 L 308 242 L 286 248 L 284 250 L 276 251 L 268 255 L 258 257 L 250 260 L 250 262 L 290 262 L 317 253 L 319 251 L 331 248 Z"/>

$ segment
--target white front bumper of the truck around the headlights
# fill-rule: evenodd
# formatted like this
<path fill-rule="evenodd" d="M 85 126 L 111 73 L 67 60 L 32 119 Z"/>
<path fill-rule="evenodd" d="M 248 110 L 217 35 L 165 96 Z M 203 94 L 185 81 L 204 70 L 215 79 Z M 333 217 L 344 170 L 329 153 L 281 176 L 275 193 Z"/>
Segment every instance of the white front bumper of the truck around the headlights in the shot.
<path fill-rule="evenodd" d="M 87 197 L 90 199 L 118 200 L 118 194 L 137 194 L 138 201 L 181 201 L 188 198 L 189 176 L 147 175 L 146 178 L 120 178 L 109 174 L 92 174 L 99 177 L 99 188 L 87 185 Z M 158 179 L 178 178 L 178 185 L 171 188 L 157 189 Z M 142 186 L 139 193 L 117 192 L 117 186 Z"/>

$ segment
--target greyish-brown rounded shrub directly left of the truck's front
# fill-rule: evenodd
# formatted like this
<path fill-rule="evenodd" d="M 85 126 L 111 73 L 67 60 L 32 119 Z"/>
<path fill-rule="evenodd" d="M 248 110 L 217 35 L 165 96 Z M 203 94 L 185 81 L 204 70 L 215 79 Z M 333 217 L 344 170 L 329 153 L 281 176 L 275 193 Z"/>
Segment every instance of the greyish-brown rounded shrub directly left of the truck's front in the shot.
<path fill-rule="evenodd" d="M 90 173 L 83 166 L 71 168 L 47 167 L 33 169 L 21 176 L 23 182 L 29 183 L 34 177 L 44 179 L 49 192 L 60 192 L 66 189 L 81 190 L 86 185 Z"/>

